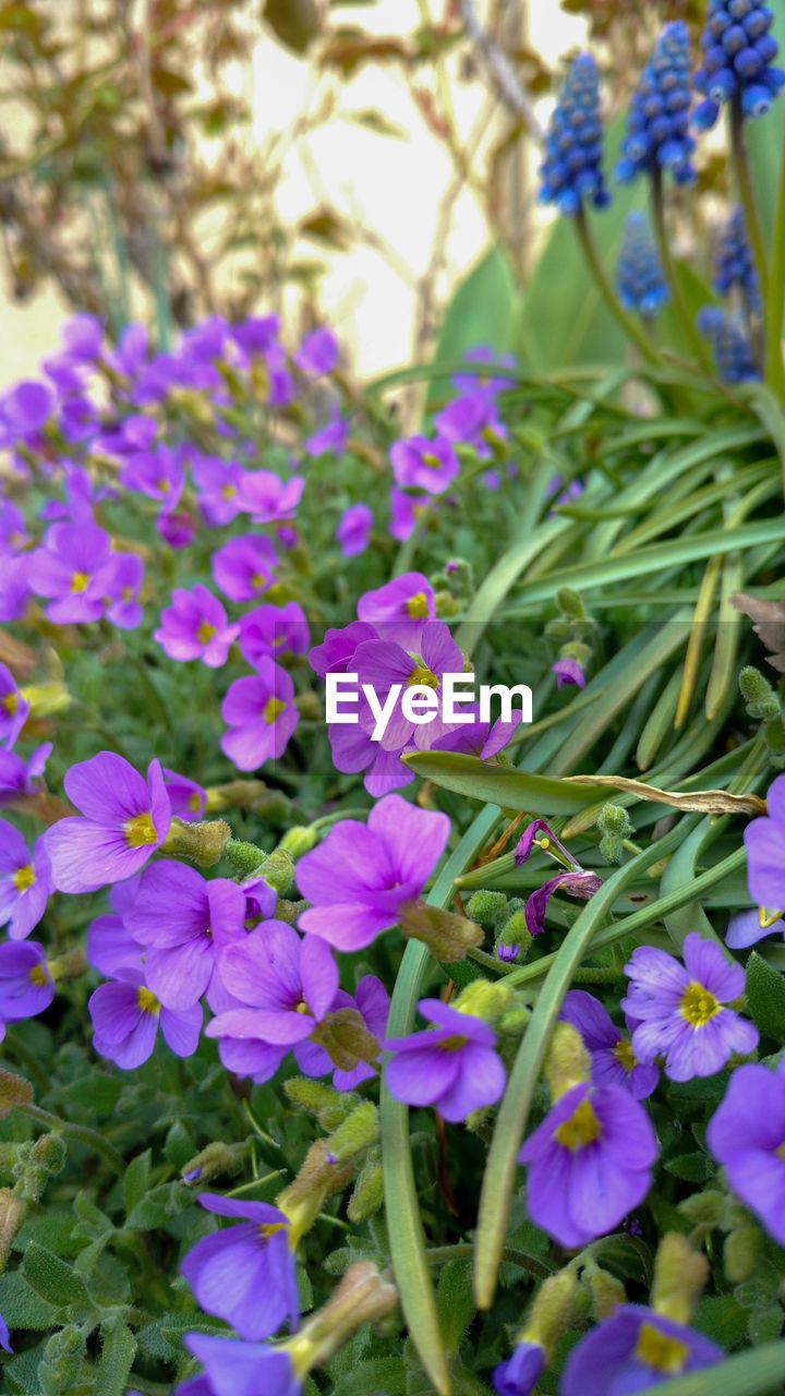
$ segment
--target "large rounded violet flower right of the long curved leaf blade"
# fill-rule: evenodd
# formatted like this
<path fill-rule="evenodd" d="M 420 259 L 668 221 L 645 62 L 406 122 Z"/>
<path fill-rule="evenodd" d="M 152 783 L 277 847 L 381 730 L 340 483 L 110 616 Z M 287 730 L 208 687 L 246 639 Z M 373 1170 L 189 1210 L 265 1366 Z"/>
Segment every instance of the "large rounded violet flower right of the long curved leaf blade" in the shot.
<path fill-rule="evenodd" d="M 650 1118 L 629 1090 L 571 1086 L 518 1153 L 529 1166 L 528 1215 L 560 1245 L 588 1245 L 643 1202 L 655 1157 Z"/>

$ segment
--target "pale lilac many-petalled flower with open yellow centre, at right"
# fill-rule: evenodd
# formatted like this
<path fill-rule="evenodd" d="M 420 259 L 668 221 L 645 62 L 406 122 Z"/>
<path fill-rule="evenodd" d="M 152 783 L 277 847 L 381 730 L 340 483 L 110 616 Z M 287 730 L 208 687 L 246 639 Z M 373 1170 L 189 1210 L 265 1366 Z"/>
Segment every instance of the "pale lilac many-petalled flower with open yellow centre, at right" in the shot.
<path fill-rule="evenodd" d="M 637 1020 L 633 1051 L 638 1061 L 665 1057 L 670 1081 L 714 1076 L 732 1053 L 754 1051 L 757 1029 L 726 1004 L 744 993 L 744 972 L 728 963 L 719 945 L 693 931 L 684 963 L 665 951 L 638 945 L 624 966 L 630 980 L 622 1008 Z"/>

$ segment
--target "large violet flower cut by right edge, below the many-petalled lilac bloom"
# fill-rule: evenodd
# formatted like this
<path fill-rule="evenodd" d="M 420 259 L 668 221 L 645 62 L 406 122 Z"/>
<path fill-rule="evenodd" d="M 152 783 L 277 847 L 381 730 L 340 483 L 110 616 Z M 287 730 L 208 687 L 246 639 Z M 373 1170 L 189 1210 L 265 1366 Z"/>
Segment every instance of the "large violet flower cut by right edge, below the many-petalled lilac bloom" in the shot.
<path fill-rule="evenodd" d="M 785 1245 L 785 1074 L 736 1067 L 705 1142 L 742 1202 Z"/>

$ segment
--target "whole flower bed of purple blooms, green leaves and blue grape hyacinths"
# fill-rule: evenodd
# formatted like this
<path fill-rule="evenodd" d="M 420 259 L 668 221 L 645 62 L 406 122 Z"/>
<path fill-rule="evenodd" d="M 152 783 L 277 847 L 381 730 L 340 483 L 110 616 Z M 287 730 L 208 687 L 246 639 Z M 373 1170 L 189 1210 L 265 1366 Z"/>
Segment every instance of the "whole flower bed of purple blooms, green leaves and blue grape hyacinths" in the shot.
<path fill-rule="evenodd" d="M 362 391 L 81 314 L 0 401 L 3 1389 L 782 1389 L 771 22 L 668 25 L 613 169 L 574 60 L 514 346 L 492 257 Z"/>

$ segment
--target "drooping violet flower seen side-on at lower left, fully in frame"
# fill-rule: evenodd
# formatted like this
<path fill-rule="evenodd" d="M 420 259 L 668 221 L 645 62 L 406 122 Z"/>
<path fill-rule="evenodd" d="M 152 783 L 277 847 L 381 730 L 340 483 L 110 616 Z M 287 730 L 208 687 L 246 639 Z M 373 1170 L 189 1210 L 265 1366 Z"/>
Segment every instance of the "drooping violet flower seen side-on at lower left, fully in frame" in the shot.
<path fill-rule="evenodd" d="M 289 1220 L 267 1202 L 244 1202 L 200 1194 L 217 1216 L 242 1219 L 239 1226 L 197 1241 L 180 1266 L 200 1308 L 226 1319 L 244 1339 L 270 1337 L 281 1323 L 298 1326 L 295 1256 Z"/>

